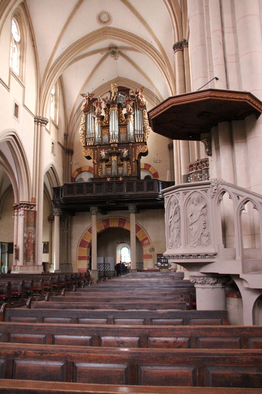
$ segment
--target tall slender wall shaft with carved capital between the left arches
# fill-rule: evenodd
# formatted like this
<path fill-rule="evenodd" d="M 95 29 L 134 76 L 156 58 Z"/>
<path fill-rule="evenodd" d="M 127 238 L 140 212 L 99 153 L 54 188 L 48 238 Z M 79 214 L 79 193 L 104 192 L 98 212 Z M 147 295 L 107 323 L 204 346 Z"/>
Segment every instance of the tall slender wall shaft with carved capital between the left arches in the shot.
<path fill-rule="evenodd" d="M 48 120 L 37 117 L 38 124 L 40 123 L 40 142 L 39 142 L 39 167 L 37 173 L 37 225 L 36 225 L 36 265 L 42 265 L 42 238 L 43 238 L 43 201 L 44 201 L 44 137 L 45 127 Z"/>

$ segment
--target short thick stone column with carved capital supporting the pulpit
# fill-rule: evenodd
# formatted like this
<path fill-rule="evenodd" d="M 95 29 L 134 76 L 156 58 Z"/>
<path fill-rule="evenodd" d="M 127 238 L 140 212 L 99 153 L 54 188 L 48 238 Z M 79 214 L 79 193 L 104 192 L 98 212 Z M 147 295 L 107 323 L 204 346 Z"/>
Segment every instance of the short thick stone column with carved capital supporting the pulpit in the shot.
<path fill-rule="evenodd" d="M 196 288 L 198 310 L 226 310 L 228 277 L 189 276 Z"/>

